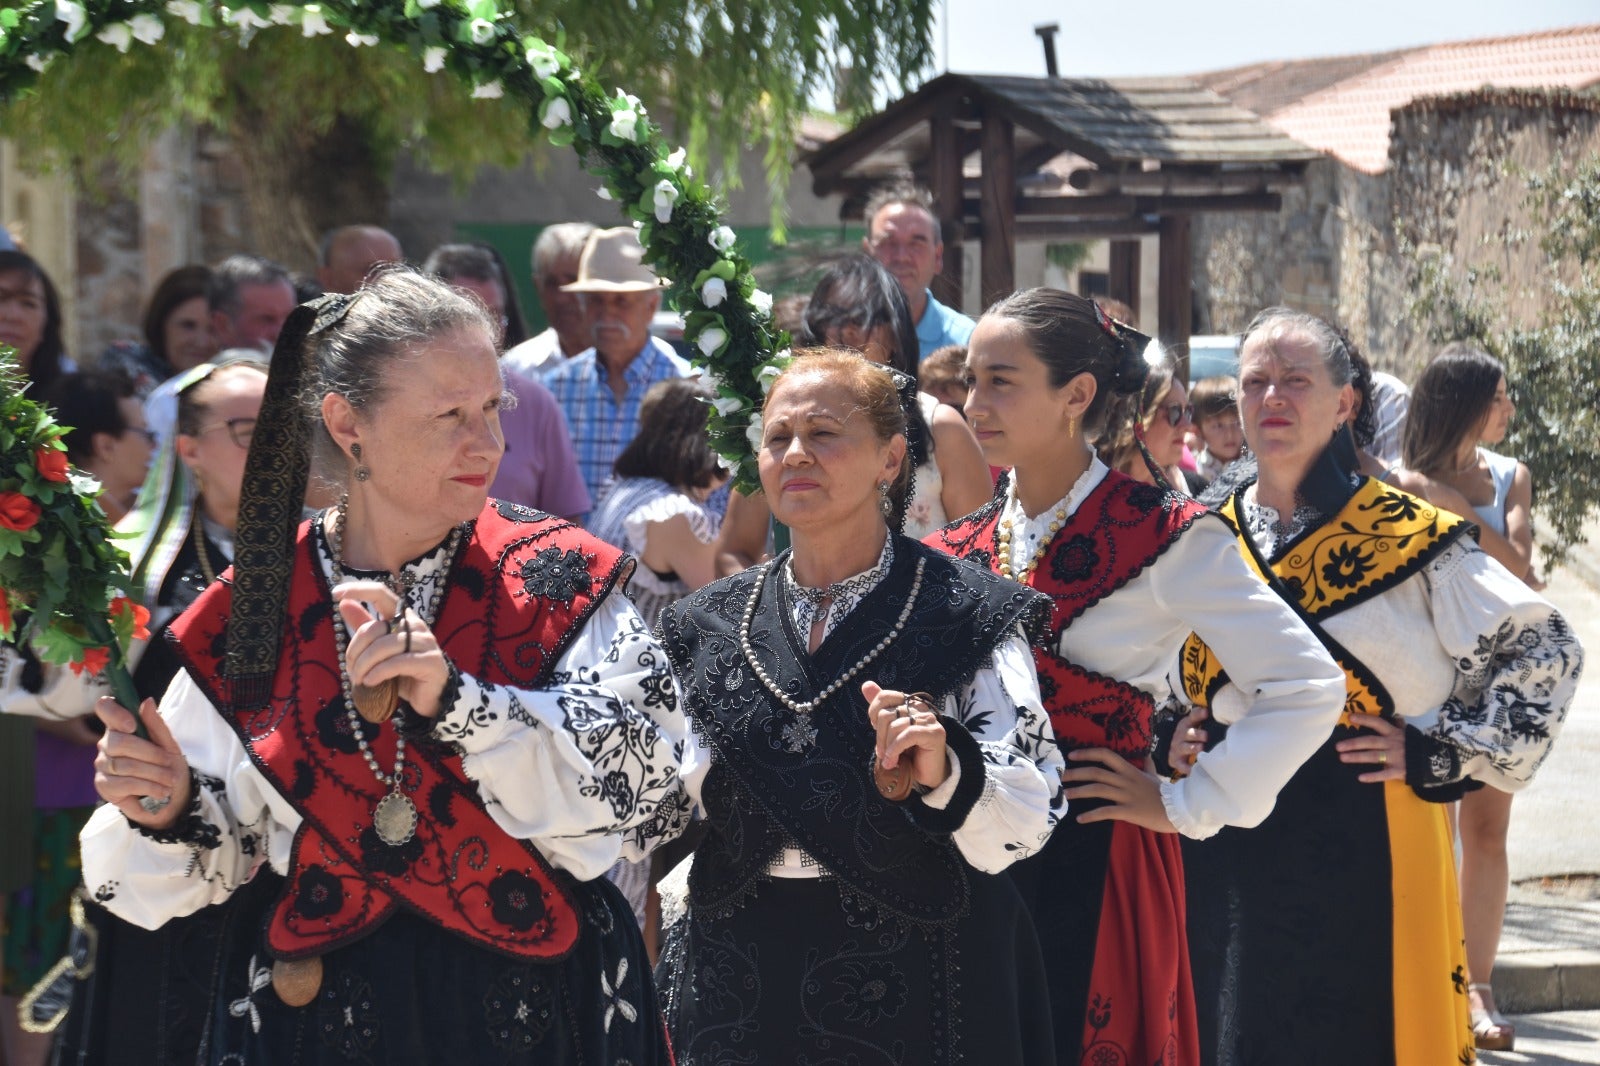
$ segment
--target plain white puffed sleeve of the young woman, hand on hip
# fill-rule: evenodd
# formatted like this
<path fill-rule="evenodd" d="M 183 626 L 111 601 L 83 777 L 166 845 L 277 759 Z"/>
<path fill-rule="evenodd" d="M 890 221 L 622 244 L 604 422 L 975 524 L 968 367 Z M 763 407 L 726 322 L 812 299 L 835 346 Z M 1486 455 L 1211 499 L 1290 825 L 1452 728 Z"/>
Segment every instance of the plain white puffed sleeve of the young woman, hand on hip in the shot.
<path fill-rule="evenodd" d="M 1224 826 L 1258 826 L 1333 733 L 1344 671 L 1245 563 L 1226 523 L 1195 522 L 1154 575 L 1158 605 L 1198 634 L 1229 674 L 1211 701 L 1227 735 L 1189 776 L 1162 783 L 1166 816 L 1197 840 Z"/>

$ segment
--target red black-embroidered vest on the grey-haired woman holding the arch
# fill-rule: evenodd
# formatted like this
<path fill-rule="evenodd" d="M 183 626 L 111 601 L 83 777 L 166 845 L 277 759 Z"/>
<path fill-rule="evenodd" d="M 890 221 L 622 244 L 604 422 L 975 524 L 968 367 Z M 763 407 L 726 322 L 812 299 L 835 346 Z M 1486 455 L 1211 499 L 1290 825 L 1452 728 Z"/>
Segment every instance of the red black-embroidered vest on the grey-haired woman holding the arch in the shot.
<path fill-rule="evenodd" d="M 573 635 L 624 575 L 627 559 L 570 522 L 490 501 L 451 562 L 434 632 L 470 677 L 520 688 L 549 683 Z M 333 599 L 309 525 L 294 547 L 283 643 L 266 707 L 235 712 L 222 672 L 230 578 L 171 626 L 190 677 L 238 733 L 251 762 L 302 821 L 267 943 L 302 959 L 371 933 L 410 908 L 501 954 L 558 959 L 578 943 L 579 912 L 528 840 L 501 829 L 448 744 L 406 744 L 403 791 L 416 832 L 384 844 L 373 808 L 387 787 L 362 757 L 334 659 Z M 362 723 L 378 765 L 394 767 L 395 720 Z"/>

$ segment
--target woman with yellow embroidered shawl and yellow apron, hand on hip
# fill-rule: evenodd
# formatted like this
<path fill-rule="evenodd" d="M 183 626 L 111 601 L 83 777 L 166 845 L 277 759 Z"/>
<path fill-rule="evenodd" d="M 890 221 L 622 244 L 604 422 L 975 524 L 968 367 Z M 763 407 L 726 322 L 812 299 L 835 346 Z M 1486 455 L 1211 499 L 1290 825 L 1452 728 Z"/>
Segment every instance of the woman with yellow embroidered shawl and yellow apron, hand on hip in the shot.
<path fill-rule="evenodd" d="M 1347 693 L 1259 828 L 1186 844 L 1205 1061 L 1467 1063 L 1442 804 L 1469 776 L 1528 783 L 1582 653 L 1462 519 L 1355 472 L 1350 355 L 1333 327 L 1274 307 L 1240 355 L 1259 480 L 1224 512 L 1243 559 L 1344 667 Z M 1222 720 L 1240 682 L 1208 643 L 1186 647 L 1182 685 Z"/>

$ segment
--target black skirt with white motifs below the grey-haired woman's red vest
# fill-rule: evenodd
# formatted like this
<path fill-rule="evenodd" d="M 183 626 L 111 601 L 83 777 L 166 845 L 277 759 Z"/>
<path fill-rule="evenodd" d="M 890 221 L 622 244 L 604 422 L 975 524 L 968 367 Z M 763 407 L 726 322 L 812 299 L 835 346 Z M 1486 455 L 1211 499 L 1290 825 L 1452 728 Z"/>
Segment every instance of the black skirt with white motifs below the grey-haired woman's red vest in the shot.
<path fill-rule="evenodd" d="M 322 991 L 285 1005 L 262 938 L 232 959 L 214 1066 L 669 1066 L 645 941 L 605 877 L 570 882 L 584 928 L 560 962 L 510 959 L 398 911 L 323 956 Z M 264 919 L 262 919 L 264 922 Z"/>

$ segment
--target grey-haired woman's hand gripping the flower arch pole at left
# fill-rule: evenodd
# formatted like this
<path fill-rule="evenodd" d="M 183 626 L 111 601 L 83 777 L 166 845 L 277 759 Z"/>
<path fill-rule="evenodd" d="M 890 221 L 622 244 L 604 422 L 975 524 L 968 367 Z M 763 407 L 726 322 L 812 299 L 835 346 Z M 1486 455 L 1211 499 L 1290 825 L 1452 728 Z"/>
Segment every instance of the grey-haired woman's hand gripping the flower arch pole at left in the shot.
<path fill-rule="evenodd" d="M 134 824 L 170 828 L 189 808 L 189 760 L 155 701 L 139 704 L 149 739 L 134 733 L 133 711 L 110 696 L 96 701 L 94 714 L 106 723 L 94 755 L 94 791 Z"/>

